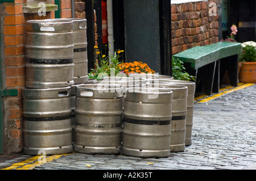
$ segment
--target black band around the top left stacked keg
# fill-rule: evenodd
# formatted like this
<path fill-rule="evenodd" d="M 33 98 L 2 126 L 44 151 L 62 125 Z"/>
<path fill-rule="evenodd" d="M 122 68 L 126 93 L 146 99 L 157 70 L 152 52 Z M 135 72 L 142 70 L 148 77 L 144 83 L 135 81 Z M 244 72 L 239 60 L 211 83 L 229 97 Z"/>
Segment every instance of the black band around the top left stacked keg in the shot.
<path fill-rule="evenodd" d="M 26 62 L 31 64 L 72 64 L 73 58 L 65 58 L 65 59 L 26 58 Z"/>

